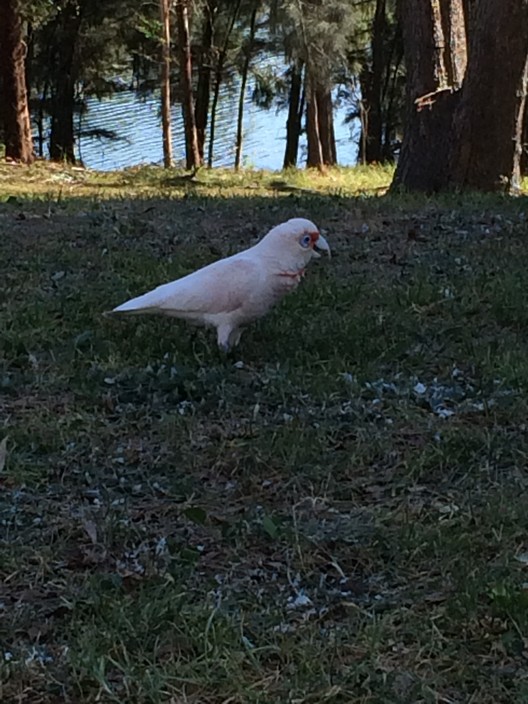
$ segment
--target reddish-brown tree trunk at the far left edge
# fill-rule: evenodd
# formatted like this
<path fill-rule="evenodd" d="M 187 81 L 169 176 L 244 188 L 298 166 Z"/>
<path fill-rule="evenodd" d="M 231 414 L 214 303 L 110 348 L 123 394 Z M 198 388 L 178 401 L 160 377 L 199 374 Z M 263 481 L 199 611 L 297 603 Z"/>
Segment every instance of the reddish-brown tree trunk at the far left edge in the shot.
<path fill-rule="evenodd" d="M 0 22 L 0 71 L 5 155 L 30 164 L 35 159 L 25 74 L 25 45 L 17 0 L 4 0 Z"/>

